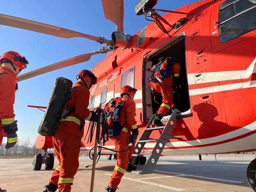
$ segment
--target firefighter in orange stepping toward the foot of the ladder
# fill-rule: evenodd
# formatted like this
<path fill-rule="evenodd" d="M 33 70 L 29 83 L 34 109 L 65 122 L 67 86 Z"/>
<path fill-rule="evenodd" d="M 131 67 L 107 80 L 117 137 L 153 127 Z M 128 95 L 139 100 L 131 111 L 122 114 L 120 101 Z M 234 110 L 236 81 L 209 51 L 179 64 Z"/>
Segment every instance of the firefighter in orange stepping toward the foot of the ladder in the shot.
<path fill-rule="evenodd" d="M 117 151 L 125 150 L 130 144 L 134 144 L 138 137 L 139 131 L 135 116 L 135 102 L 133 100 L 136 89 L 131 86 L 123 86 L 121 89 L 121 98 L 123 100 L 123 107 L 120 111 L 118 121 L 121 125 L 125 125 L 121 134 L 116 137 L 110 137 L 115 144 Z M 132 132 L 132 134 L 131 134 Z M 128 167 L 128 150 L 124 152 L 117 152 L 117 162 L 114 172 L 110 178 L 108 186 L 105 188 L 107 192 L 115 192 L 121 182 L 122 176 Z"/>

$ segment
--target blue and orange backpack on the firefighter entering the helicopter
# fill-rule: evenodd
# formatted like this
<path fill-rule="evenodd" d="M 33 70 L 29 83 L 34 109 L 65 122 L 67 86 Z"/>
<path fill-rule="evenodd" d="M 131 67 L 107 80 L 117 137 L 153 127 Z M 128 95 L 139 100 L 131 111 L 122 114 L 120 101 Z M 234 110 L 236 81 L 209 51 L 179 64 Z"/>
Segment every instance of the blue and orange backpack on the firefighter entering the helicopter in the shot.
<path fill-rule="evenodd" d="M 160 79 L 171 77 L 174 61 L 174 57 L 166 58 L 164 62 L 160 62 L 152 66 L 150 70 L 150 77 L 148 78 L 149 82 L 156 80 L 156 77 L 159 77 Z"/>

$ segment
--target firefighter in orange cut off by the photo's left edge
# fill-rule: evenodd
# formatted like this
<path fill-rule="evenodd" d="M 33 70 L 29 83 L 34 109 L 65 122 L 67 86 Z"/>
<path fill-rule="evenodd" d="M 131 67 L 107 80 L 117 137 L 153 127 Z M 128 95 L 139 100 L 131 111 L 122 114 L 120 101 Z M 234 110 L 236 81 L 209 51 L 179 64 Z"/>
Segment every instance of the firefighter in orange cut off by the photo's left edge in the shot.
<path fill-rule="evenodd" d="M 0 146 L 3 137 L 7 136 L 6 149 L 12 148 L 18 141 L 17 120 L 14 114 L 17 76 L 25 69 L 28 61 L 15 51 L 8 51 L 0 57 Z M 0 192 L 4 192 L 0 188 Z"/>

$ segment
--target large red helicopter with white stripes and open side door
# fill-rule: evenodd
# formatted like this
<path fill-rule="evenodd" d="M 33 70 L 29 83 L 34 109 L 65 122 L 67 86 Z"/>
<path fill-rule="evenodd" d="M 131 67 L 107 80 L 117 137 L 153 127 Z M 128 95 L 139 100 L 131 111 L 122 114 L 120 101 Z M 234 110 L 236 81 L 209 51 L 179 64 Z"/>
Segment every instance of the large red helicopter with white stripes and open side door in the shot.
<path fill-rule="evenodd" d="M 0 24 L 106 44 L 107 48 L 20 75 L 19 81 L 85 62 L 94 54 L 109 52 L 92 68 L 98 83 L 90 90 L 89 108 L 100 104 L 104 107 L 111 98 L 119 96 L 123 85 L 135 87 L 138 90 L 134 101 L 140 136 L 159 107 L 149 89 L 150 68 L 162 57 L 174 57 L 182 66 L 180 76 L 184 89 L 180 97 L 174 93 L 176 122 L 168 133 L 170 137 L 160 147 L 160 154 L 255 151 L 256 0 L 204 0 L 175 11 L 155 9 L 156 4 L 157 0 L 140 0 L 136 5 L 136 14 L 144 15 L 151 22 L 131 36 L 123 32 L 123 0 L 102 0 L 105 18 L 117 26 L 112 40 L 3 14 Z M 158 12 L 168 13 L 160 16 Z M 165 116 L 163 121 L 168 123 L 171 118 Z M 88 124 L 86 122 L 86 128 Z M 156 129 L 150 133 L 150 138 L 160 138 L 161 135 L 162 130 Z M 94 146 L 85 138 L 81 142 L 81 153 L 88 153 Z M 152 154 L 156 145 L 156 140 L 147 140 L 140 154 Z M 52 168 L 53 162 L 47 154 L 47 149 L 53 148 L 52 138 L 38 136 L 36 146 L 44 150 L 43 162 L 51 165 L 46 168 Z M 106 146 L 114 149 L 112 141 Z M 111 152 L 102 150 L 101 153 Z M 37 156 L 42 165 L 42 155 Z M 140 164 L 146 164 L 145 156 L 137 155 L 137 158 Z M 35 158 L 34 164 L 36 161 Z M 248 166 L 247 177 L 254 190 L 255 176 L 256 160 L 253 160 Z"/>

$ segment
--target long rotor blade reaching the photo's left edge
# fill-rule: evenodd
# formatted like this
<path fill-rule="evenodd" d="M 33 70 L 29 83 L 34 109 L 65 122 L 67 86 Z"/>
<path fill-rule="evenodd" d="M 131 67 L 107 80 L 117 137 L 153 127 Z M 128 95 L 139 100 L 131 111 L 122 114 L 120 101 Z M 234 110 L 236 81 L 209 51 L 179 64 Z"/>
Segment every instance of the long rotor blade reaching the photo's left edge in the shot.
<path fill-rule="evenodd" d="M 35 31 L 43 34 L 48 34 L 56 37 L 62 37 L 62 38 L 73 38 L 73 37 L 82 37 L 90 40 L 94 40 L 97 42 L 102 43 L 111 43 L 109 40 L 106 40 L 105 38 L 102 39 L 102 37 L 96 37 L 88 34 L 83 34 L 80 32 L 68 30 L 61 27 L 56 27 L 32 20 L 22 19 L 14 16 L 4 15 L 0 14 L 0 24 L 16 27 L 20 29 Z M 104 42 L 105 40 L 105 42 Z"/>

